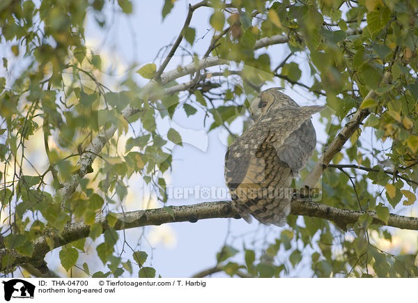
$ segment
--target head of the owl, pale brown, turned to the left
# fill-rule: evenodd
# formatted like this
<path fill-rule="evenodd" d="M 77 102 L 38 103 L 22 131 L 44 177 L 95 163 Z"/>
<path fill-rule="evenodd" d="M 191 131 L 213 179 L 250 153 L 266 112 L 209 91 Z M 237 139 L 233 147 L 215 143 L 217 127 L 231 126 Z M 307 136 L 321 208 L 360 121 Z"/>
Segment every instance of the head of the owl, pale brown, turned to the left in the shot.
<path fill-rule="evenodd" d="M 299 107 L 288 95 L 281 93 L 281 89 L 283 88 L 268 88 L 258 94 L 249 107 L 254 121 L 258 121 L 268 111 L 279 109 L 280 107 Z"/>

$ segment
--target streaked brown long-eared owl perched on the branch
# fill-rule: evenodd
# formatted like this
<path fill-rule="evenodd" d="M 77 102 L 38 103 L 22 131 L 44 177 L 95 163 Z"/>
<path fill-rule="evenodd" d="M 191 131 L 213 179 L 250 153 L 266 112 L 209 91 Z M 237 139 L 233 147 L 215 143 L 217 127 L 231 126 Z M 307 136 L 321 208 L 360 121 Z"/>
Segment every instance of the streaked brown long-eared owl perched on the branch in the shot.
<path fill-rule="evenodd" d="M 316 145 L 311 115 L 325 107 L 299 107 L 269 88 L 252 102 L 255 124 L 235 139 L 225 155 L 225 180 L 233 204 L 249 221 L 284 226 L 291 211 L 291 182 Z"/>

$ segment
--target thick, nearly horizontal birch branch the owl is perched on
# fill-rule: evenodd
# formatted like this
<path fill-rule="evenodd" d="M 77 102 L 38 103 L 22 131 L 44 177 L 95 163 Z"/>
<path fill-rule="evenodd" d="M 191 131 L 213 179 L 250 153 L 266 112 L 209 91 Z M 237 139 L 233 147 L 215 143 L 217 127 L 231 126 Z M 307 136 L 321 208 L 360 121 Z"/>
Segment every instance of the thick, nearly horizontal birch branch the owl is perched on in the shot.
<path fill-rule="evenodd" d="M 291 214 L 303 215 L 308 217 L 318 217 L 328 219 L 341 228 L 346 228 L 347 224 L 357 222 L 357 219 L 365 212 L 356 210 L 341 210 L 332 206 L 304 202 L 292 201 Z M 233 209 L 231 201 L 205 202 L 194 205 L 172 206 L 171 210 L 167 208 L 157 208 L 153 210 L 137 210 L 134 212 L 125 212 L 117 215 L 116 230 L 127 228 L 135 228 L 139 226 L 161 225 L 171 222 L 197 222 L 201 219 L 213 218 L 240 218 Z M 367 212 L 373 218 L 373 224 L 382 226 L 393 226 L 397 228 L 418 230 L 418 218 L 405 217 L 401 215 L 390 214 L 388 222 L 382 222 L 375 212 Z M 96 223 L 100 224 L 103 231 L 109 228 L 105 217 L 96 219 Z M 0 268 L 4 270 L 6 267 L 12 268 L 25 263 L 39 263 L 45 257 L 48 251 L 53 248 L 61 247 L 64 244 L 87 238 L 90 233 L 90 226 L 83 222 L 67 224 L 61 235 L 49 233 L 42 235 L 33 243 L 33 256 L 20 256 L 15 251 L 8 249 L 0 249 L 0 261 L 6 260 L 4 256 L 11 256 L 10 262 L 1 264 Z M 53 243 L 53 247 L 49 247 L 49 243 Z"/>

